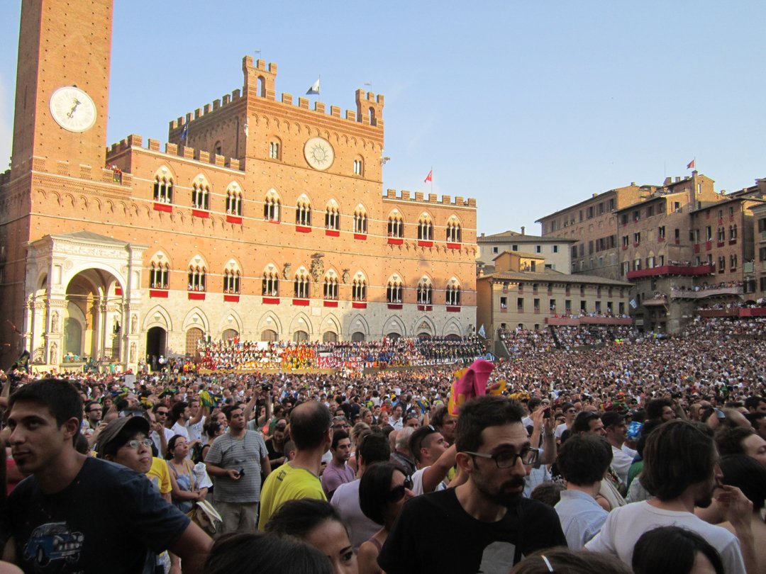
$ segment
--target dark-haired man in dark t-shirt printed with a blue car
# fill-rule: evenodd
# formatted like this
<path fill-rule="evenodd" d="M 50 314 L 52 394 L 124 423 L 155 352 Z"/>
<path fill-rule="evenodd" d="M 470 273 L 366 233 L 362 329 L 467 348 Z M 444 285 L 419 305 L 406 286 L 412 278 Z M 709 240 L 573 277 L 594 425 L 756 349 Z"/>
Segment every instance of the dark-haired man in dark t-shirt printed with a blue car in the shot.
<path fill-rule="evenodd" d="M 207 534 L 162 500 L 145 475 L 74 449 L 83 412 L 74 386 L 56 379 L 28 383 L 8 408 L 11 453 L 31 476 L 8 501 L 5 560 L 25 572 L 134 574 L 153 572 L 150 549 L 170 550 L 182 559 L 184 574 L 201 572 Z"/>

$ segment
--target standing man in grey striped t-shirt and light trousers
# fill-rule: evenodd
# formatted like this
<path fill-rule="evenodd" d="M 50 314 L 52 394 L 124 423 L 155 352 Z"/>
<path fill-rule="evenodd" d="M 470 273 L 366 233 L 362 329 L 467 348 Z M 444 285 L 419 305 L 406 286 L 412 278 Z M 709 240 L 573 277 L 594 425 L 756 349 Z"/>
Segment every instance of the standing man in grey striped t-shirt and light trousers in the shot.
<path fill-rule="evenodd" d="M 271 472 L 263 437 L 247 430 L 244 409 L 224 407 L 228 432 L 213 441 L 205 455 L 208 474 L 214 477 L 213 502 L 223 518 L 221 534 L 256 532 L 260 502 L 260 474 Z"/>

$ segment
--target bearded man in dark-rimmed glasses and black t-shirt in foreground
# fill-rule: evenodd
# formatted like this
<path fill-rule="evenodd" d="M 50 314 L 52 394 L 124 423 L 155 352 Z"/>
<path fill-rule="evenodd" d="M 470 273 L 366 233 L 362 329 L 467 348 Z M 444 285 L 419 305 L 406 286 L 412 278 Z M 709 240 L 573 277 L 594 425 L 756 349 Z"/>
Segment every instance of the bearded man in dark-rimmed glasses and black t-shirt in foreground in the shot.
<path fill-rule="evenodd" d="M 385 572 L 508 572 L 524 555 L 566 546 L 555 510 L 522 497 L 538 455 L 523 416 L 502 396 L 463 405 L 455 445 L 466 482 L 404 504 L 378 556 Z"/>

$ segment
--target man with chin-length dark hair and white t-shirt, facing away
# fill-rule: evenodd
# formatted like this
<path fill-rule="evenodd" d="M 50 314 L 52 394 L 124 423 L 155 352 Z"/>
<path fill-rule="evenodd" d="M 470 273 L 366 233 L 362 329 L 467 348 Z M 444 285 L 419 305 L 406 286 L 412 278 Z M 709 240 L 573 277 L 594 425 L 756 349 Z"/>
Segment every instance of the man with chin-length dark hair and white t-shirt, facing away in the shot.
<path fill-rule="evenodd" d="M 680 419 L 660 425 L 643 448 L 641 484 L 654 498 L 612 510 L 586 549 L 617 555 L 630 566 L 633 546 L 643 533 L 679 526 L 699 534 L 718 550 L 726 572 L 755 572 L 745 569 L 745 559 L 748 565 L 755 564 L 748 501 L 742 500 L 738 488 L 721 485 L 721 478 L 719 453 L 708 427 Z M 714 490 L 738 536 L 694 515 L 694 507 L 709 507 Z"/>

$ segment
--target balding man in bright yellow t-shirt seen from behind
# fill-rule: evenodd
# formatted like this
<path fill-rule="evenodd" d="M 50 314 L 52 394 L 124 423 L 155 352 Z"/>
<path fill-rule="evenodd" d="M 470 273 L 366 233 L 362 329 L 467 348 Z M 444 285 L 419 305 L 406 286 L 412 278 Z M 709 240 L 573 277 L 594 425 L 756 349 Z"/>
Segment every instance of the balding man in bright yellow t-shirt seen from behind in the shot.
<path fill-rule="evenodd" d="M 296 406 L 290 413 L 290 439 L 295 444 L 295 458 L 273 471 L 260 492 L 258 530 L 264 530 L 270 517 L 283 502 L 299 498 L 326 501 L 319 467 L 322 455 L 332 444 L 332 417 L 318 401 Z"/>

